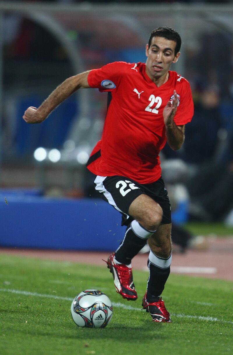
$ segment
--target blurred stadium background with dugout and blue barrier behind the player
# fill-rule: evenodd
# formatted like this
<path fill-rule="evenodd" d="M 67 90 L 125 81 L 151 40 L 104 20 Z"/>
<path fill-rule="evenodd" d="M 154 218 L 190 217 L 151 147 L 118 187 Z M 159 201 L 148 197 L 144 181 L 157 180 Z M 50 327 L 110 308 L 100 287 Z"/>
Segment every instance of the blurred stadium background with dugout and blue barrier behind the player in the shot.
<path fill-rule="evenodd" d="M 161 153 L 174 241 L 185 251 L 203 242 L 197 237 L 232 235 L 232 18 L 232 1 L 0 1 L 0 246 L 119 244 L 120 217 L 98 200 L 85 168 L 101 137 L 106 94 L 80 90 L 41 125 L 22 115 L 69 76 L 112 61 L 145 62 L 159 26 L 181 34 L 171 69 L 190 82 L 195 107 L 183 147 Z M 93 239 L 80 241 L 81 233 Z"/>

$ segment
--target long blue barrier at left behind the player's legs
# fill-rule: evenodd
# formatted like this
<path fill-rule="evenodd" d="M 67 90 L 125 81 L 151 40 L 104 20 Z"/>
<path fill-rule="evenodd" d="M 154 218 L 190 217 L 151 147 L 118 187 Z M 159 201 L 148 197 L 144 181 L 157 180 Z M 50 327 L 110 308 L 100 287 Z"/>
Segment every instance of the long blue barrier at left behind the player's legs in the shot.
<path fill-rule="evenodd" d="M 123 239 L 121 214 L 102 200 L 6 197 L 0 193 L 1 247 L 113 251 Z"/>

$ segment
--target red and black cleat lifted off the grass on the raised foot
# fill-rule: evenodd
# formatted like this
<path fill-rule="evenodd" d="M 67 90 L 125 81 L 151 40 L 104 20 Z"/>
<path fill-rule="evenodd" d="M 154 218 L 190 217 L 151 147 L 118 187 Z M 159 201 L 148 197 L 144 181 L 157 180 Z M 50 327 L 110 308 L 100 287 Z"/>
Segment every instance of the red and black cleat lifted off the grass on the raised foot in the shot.
<path fill-rule="evenodd" d="M 116 291 L 128 301 L 135 301 L 138 298 L 133 282 L 132 268 L 124 264 L 115 264 L 113 261 L 115 253 L 107 258 L 107 267 L 113 275 Z"/>

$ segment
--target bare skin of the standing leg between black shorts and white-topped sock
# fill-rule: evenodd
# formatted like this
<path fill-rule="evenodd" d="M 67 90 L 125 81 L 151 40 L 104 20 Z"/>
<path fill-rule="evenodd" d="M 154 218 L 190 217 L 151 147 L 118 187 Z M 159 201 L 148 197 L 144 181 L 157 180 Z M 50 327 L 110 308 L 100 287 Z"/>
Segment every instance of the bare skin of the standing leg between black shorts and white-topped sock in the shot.
<path fill-rule="evenodd" d="M 158 256 L 169 257 L 171 253 L 171 223 L 159 225 L 157 231 L 148 239 L 148 245 Z"/>

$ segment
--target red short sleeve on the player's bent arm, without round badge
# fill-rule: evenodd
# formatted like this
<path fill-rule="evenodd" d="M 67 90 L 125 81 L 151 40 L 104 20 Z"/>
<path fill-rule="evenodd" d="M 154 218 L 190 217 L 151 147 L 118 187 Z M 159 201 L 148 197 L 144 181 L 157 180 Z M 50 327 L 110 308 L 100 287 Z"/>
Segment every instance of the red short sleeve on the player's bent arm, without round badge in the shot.
<path fill-rule="evenodd" d="M 180 91 L 180 90 L 179 90 Z M 179 93 L 177 88 L 177 93 Z M 185 125 L 190 122 L 193 117 L 193 99 L 189 82 L 184 79 L 180 92 L 180 104 L 174 117 L 177 126 Z"/>

